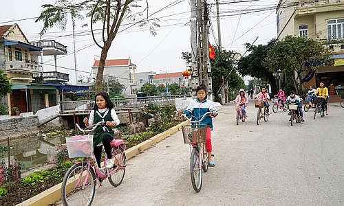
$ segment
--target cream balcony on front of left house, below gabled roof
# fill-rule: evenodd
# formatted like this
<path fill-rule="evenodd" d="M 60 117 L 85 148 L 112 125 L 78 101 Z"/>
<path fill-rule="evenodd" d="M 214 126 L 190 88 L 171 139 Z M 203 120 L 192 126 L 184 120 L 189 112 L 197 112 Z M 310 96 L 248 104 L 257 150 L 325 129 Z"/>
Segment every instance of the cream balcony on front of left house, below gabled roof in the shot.
<path fill-rule="evenodd" d="M 5 70 L 9 72 L 39 73 L 42 66 L 32 62 L 12 61 L 5 62 Z"/>

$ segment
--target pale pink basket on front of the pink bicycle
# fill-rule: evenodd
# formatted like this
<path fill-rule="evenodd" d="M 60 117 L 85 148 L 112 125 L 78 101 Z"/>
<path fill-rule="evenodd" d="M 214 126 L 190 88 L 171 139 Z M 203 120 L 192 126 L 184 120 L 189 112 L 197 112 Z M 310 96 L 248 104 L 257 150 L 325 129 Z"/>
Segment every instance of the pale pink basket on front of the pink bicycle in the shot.
<path fill-rule="evenodd" d="M 68 157 L 92 157 L 93 135 L 65 137 Z"/>

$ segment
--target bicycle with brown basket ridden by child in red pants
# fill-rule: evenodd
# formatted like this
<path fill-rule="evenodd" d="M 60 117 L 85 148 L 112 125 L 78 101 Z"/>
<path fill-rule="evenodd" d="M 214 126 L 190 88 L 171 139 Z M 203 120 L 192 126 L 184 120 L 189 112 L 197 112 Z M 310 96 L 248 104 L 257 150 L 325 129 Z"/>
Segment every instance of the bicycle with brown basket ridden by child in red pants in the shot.
<path fill-rule="evenodd" d="M 193 149 L 190 156 L 190 174 L 191 183 L 195 192 L 200 192 L 202 188 L 202 172 L 208 171 L 208 153 L 206 152 L 206 132 L 208 126 L 200 124 L 206 115 L 211 112 L 204 113 L 200 120 L 191 121 L 189 117 L 183 115 L 191 125 L 182 126 L 182 133 L 185 144 L 191 144 Z"/>

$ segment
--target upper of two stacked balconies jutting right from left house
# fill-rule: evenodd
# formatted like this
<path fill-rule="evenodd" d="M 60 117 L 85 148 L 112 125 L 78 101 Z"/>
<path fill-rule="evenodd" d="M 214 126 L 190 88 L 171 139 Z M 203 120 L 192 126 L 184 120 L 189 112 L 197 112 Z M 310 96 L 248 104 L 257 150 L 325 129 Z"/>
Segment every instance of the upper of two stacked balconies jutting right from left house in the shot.
<path fill-rule="evenodd" d="M 54 40 L 52 41 L 38 41 L 30 43 L 35 47 L 43 48 L 44 55 L 64 55 L 67 54 L 67 46 L 62 45 Z"/>

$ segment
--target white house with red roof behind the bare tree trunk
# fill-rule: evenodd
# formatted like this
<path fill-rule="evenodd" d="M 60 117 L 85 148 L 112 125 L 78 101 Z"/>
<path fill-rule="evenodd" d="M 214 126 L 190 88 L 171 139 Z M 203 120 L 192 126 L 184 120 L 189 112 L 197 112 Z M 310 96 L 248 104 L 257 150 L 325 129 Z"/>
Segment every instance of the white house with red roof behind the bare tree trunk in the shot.
<path fill-rule="evenodd" d="M 94 64 L 92 66 L 94 79 L 98 73 L 98 66 L 99 60 L 94 60 Z M 116 78 L 120 84 L 125 85 L 125 91 L 123 91 L 123 94 L 131 95 L 133 94 L 133 87 L 138 84 L 135 77 L 135 69 L 136 65 L 131 63 L 130 58 L 106 60 L 103 80 L 104 82 L 107 82 L 107 80 L 111 78 Z"/>

